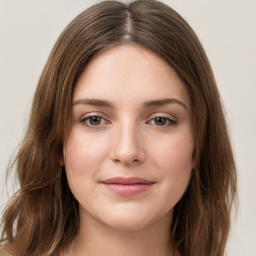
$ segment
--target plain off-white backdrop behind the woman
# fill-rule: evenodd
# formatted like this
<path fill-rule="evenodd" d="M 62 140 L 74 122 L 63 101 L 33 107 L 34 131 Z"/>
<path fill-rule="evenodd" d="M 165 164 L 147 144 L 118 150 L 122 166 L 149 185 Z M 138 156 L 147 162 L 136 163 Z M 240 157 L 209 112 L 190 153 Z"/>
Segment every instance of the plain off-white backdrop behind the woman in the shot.
<path fill-rule="evenodd" d="M 0 205 L 4 169 L 24 132 L 59 33 L 93 0 L 0 0 Z M 240 206 L 228 256 L 256 255 L 256 0 L 163 0 L 193 27 L 212 65 L 235 148 Z M 219 141 L 221 143 L 221 141 Z M 10 192 L 12 190 L 10 189 Z"/>

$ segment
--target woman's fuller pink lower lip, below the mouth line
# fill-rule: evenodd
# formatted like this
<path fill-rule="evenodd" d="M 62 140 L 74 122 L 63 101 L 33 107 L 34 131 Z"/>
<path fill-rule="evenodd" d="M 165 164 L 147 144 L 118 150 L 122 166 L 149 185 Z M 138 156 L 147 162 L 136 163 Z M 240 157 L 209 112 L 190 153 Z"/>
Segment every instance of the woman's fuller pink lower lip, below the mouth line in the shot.
<path fill-rule="evenodd" d="M 119 184 L 119 183 L 102 183 L 106 189 L 122 196 L 132 196 L 149 189 L 153 183 L 135 183 L 135 184 Z"/>

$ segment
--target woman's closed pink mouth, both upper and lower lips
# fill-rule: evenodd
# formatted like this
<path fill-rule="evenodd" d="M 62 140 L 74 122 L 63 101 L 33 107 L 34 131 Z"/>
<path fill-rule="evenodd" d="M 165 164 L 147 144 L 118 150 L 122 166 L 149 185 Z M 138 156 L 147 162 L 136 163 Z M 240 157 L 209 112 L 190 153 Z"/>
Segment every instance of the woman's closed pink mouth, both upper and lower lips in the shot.
<path fill-rule="evenodd" d="M 114 194 L 132 196 L 146 191 L 155 182 L 140 177 L 113 177 L 102 180 L 100 183 Z"/>

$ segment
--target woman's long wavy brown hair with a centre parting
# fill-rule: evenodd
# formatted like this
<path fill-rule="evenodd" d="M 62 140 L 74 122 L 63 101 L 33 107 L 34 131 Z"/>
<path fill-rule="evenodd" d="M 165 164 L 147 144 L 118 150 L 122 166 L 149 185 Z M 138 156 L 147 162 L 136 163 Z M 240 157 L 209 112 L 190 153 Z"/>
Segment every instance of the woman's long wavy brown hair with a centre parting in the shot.
<path fill-rule="evenodd" d="M 206 54 L 188 23 L 156 0 L 102 1 L 63 30 L 42 70 L 27 131 L 10 168 L 20 189 L 2 218 L 6 255 L 53 255 L 78 230 L 78 203 L 59 166 L 75 81 L 99 50 L 143 45 L 183 80 L 194 115 L 196 167 L 175 205 L 171 240 L 182 255 L 222 256 L 236 198 L 236 171 L 220 96 Z"/>

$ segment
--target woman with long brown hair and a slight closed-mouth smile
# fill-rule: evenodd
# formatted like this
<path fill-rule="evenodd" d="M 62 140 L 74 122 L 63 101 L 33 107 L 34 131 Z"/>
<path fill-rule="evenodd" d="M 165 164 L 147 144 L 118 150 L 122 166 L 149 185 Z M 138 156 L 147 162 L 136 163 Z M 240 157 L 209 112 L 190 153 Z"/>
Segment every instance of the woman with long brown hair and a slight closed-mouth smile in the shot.
<path fill-rule="evenodd" d="M 13 164 L 6 255 L 223 255 L 236 173 L 218 90 L 183 18 L 104 1 L 59 36 Z"/>

